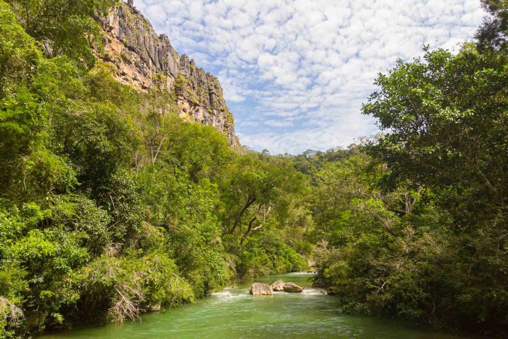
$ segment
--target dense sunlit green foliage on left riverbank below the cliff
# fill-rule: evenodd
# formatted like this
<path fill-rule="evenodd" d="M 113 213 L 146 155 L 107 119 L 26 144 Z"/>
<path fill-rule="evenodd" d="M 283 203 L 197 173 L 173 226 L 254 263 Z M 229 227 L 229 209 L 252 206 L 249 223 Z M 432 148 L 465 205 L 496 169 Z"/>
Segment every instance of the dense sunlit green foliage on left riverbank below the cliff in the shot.
<path fill-rule="evenodd" d="M 243 275 L 307 267 L 303 231 L 285 231 L 300 228 L 291 216 L 307 187 L 290 162 L 184 122 L 174 94 L 87 69 L 100 37 L 91 15 L 109 2 L 10 3 L 0 2 L 0 337 L 136 319 Z"/>

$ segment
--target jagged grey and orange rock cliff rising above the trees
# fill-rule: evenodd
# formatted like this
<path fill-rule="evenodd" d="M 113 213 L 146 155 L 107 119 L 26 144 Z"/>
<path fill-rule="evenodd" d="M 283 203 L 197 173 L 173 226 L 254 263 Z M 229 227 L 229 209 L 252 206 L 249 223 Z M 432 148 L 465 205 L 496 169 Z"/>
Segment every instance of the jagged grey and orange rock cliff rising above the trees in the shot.
<path fill-rule="evenodd" d="M 169 38 L 157 35 L 132 2 L 99 20 L 106 33 L 104 61 L 115 67 L 118 81 L 139 90 L 174 91 L 183 118 L 213 126 L 233 147 L 239 145 L 233 114 L 215 76 L 196 67 L 187 55 L 179 56 Z"/>

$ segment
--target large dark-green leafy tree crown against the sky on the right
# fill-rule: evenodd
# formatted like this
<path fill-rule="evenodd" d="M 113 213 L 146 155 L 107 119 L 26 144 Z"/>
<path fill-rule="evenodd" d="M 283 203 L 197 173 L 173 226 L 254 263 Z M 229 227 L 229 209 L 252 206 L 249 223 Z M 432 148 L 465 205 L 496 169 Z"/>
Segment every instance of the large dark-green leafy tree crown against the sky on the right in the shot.
<path fill-rule="evenodd" d="M 380 75 L 364 114 L 389 131 L 367 147 L 386 162 L 388 186 L 410 179 L 470 195 L 486 213 L 506 206 L 508 73 L 466 45 L 426 51 Z"/>

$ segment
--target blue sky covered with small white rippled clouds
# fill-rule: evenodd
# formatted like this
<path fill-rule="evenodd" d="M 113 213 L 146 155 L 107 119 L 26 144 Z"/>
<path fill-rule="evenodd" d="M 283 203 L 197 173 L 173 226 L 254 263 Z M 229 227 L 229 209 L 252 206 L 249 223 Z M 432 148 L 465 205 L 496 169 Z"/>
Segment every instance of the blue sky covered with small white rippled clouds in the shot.
<path fill-rule="evenodd" d="M 457 51 L 479 0 L 134 0 L 179 54 L 224 88 L 242 145 L 272 154 L 347 146 L 378 131 L 361 114 L 378 73 Z"/>

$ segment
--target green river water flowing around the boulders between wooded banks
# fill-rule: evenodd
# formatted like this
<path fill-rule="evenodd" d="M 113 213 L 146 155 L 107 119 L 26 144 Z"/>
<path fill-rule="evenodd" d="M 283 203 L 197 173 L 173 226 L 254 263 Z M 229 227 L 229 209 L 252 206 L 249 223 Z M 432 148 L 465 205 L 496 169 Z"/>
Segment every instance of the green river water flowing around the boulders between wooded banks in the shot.
<path fill-rule="evenodd" d="M 337 297 L 311 288 L 310 276 L 289 273 L 256 279 L 261 283 L 291 281 L 306 287 L 302 293 L 251 296 L 247 290 L 252 282 L 244 282 L 195 303 L 146 314 L 136 323 L 85 327 L 40 338 L 465 338 L 399 322 L 341 314 Z"/>

